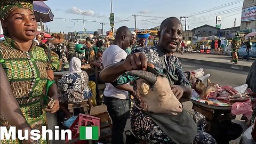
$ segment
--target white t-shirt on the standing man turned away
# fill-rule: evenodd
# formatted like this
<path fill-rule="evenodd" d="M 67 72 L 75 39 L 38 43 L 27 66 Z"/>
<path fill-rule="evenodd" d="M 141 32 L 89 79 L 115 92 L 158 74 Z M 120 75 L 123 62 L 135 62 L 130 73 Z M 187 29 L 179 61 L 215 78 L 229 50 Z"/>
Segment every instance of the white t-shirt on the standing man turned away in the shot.
<path fill-rule="evenodd" d="M 113 63 L 120 62 L 127 57 L 127 53 L 117 45 L 110 45 L 102 54 L 103 67 L 112 65 Z M 113 69 L 114 70 L 114 69 Z M 128 92 L 119 90 L 110 83 L 106 83 L 106 88 L 103 92 L 106 97 L 128 99 Z"/>

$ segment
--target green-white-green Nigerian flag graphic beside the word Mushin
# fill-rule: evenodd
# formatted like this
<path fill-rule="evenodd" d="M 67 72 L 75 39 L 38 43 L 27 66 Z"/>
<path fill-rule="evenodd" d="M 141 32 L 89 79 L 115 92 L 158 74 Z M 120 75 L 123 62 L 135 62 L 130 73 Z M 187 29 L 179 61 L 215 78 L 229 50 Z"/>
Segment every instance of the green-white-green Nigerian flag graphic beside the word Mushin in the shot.
<path fill-rule="evenodd" d="M 80 140 L 99 140 L 99 126 L 80 126 Z"/>

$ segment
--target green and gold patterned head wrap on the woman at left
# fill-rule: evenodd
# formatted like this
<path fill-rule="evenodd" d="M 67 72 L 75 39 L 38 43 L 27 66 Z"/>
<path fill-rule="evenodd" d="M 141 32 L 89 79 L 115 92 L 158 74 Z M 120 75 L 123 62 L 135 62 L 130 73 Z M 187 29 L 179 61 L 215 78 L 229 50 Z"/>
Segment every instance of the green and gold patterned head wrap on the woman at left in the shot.
<path fill-rule="evenodd" d="M 17 9 L 29 9 L 33 12 L 33 0 L 1 0 L 1 20 L 6 20 L 8 15 Z"/>

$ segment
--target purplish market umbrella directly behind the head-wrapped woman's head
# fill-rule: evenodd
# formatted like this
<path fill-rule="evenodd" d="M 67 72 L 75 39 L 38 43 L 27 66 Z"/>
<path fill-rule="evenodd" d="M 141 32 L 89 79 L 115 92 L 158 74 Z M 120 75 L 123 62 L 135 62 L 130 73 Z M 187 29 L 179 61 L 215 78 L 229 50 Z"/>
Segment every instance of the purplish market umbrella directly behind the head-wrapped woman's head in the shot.
<path fill-rule="evenodd" d="M 36 21 L 43 21 L 43 22 L 49 22 L 53 21 L 53 13 L 51 12 L 51 9 L 49 6 L 47 6 L 44 2 L 33 2 L 33 10 L 35 13 Z"/>

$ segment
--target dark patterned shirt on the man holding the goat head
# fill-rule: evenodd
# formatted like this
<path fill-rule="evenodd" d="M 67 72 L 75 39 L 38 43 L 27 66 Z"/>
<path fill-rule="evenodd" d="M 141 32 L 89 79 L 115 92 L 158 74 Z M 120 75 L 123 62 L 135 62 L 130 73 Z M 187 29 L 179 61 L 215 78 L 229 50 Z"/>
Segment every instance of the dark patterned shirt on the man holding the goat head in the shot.
<path fill-rule="evenodd" d="M 164 68 L 162 65 L 162 60 L 160 54 L 157 50 L 157 47 L 139 47 L 137 49 L 133 49 L 131 53 L 143 52 L 147 57 L 147 62 L 152 63 L 155 69 L 160 73 L 164 74 Z M 183 73 L 183 69 L 181 66 L 180 60 L 174 55 L 163 55 L 164 63 L 166 70 L 169 71 L 174 77 L 178 78 L 178 81 L 174 82 L 175 85 L 182 86 L 190 86 L 188 79 L 185 77 Z M 134 81 L 136 78 L 132 76 L 127 76 L 123 74 L 122 76 L 117 78 L 117 85 L 123 85 Z"/>

